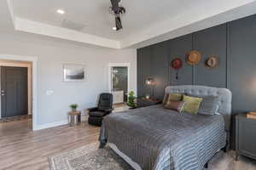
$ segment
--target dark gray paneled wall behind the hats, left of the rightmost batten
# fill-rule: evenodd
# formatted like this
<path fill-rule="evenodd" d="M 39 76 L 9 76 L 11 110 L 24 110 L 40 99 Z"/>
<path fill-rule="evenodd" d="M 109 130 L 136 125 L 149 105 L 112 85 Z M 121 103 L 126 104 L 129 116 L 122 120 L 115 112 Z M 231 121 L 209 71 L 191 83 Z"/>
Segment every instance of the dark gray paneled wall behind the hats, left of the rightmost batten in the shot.
<path fill-rule="evenodd" d="M 137 49 L 138 96 L 148 94 L 149 88 L 144 84 L 148 77 L 154 77 L 154 97 L 159 99 L 163 97 L 167 85 L 196 84 L 226 88 L 227 31 L 227 24 L 224 24 Z M 192 49 L 201 52 L 201 63 L 195 66 L 188 65 L 185 59 Z M 207 69 L 204 63 L 212 55 L 218 56 L 218 68 Z M 171 66 L 172 59 L 177 57 L 183 59 L 178 79 L 177 72 Z"/>

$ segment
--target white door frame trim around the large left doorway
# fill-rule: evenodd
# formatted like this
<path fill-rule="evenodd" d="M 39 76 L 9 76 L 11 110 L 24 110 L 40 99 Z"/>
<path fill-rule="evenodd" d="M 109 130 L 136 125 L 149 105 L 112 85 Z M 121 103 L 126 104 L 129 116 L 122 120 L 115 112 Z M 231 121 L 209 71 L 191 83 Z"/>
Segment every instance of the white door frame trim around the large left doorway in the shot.
<path fill-rule="evenodd" d="M 0 54 L 0 59 L 32 62 L 32 130 L 38 129 L 38 57 Z"/>

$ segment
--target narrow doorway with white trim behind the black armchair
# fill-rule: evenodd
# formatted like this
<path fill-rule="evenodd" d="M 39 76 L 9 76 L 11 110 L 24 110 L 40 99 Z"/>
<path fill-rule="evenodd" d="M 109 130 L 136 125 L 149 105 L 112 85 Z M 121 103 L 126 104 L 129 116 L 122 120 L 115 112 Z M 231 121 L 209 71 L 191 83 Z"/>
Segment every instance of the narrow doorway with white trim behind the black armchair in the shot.
<path fill-rule="evenodd" d="M 108 64 L 109 70 L 109 92 L 113 94 L 113 104 L 124 104 L 129 92 L 130 64 Z"/>

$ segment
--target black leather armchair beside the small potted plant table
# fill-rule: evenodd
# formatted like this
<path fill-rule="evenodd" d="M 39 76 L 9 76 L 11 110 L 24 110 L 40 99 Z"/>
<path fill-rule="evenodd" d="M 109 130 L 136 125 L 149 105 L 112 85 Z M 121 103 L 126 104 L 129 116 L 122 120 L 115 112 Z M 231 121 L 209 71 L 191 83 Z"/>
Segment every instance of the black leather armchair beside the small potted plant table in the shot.
<path fill-rule="evenodd" d="M 102 120 L 104 116 L 107 116 L 113 111 L 113 95 L 101 94 L 98 106 L 88 109 L 89 118 L 88 123 L 90 125 L 102 126 Z"/>

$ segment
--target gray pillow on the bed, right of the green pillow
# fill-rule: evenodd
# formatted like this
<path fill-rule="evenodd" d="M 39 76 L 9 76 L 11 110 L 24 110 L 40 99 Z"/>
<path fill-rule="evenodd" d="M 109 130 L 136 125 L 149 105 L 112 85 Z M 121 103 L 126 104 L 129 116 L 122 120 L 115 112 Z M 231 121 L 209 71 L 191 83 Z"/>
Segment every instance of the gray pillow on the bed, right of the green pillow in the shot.
<path fill-rule="evenodd" d="M 189 95 L 193 97 L 201 97 L 191 94 Z M 203 115 L 216 115 L 218 112 L 218 96 L 203 96 L 201 98 L 202 101 L 198 113 Z"/>

